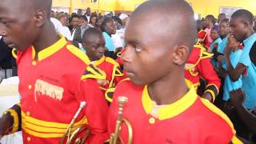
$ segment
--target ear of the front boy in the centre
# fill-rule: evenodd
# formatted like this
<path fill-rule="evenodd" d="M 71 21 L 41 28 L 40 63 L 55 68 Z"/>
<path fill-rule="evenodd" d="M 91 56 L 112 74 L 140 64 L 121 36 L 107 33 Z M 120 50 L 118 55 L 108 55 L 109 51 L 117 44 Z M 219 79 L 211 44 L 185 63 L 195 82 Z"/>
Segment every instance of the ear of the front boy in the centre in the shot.
<path fill-rule="evenodd" d="M 187 46 L 174 46 L 173 62 L 176 65 L 182 66 L 186 63 L 186 59 L 190 54 L 190 49 Z"/>

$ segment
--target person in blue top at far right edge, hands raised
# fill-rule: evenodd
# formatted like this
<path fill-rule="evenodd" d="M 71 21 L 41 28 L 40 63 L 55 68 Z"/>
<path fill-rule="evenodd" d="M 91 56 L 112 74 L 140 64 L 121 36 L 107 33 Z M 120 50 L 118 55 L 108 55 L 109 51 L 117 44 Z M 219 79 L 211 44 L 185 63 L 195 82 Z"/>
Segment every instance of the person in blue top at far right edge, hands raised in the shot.
<path fill-rule="evenodd" d="M 256 106 L 256 66 L 250 60 L 250 50 L 254 45 L 254 42 L 256 42 L 256 34 L 253 29 L 253 19 L 253 14 L 248 10 L 237 10 L 231 16 L 230 26 L 232 34 L 234 34 L 234 37 L 244 45 L 237 66 L 232 66 L 230 62 L 231 50 L 225 49 L 225 61 L 230 79 L 235 82 L 242 75 L 242 90 L 244 90 L 246 94 L 243 106 L 247 110 L 253 110 Z M 236 124 L 234 122 L 234 126 L 235 125 Z M 248 138 L 249 133 L 245 126 L 243 127 L 243 132 L 240 134 L 243 138 Z"/>

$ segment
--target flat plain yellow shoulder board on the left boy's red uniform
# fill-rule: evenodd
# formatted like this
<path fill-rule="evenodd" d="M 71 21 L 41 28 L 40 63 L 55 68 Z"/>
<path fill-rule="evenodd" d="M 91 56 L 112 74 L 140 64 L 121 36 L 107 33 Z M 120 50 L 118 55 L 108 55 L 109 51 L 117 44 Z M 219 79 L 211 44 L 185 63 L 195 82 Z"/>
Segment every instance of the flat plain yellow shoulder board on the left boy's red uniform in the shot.
<path fill-rule="evenodd" d="M 69 50 L 72 54 L 74 54 L 76 57 L 82 60 L 82 62 L 85 62 L 86 65 L 90 65 L 90 59 L 86 54 L 83 54 L 81 50 L 79 50 L 77 47 L 73 45 L 66 45 L 66 49 Z"/>

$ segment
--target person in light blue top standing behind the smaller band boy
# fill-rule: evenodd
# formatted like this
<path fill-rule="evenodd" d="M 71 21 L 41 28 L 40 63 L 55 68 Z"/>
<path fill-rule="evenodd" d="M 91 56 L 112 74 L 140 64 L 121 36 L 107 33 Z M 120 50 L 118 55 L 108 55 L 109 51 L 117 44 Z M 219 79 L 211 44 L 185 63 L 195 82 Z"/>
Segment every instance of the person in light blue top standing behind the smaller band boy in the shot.
<path fill-rule="evenodd" d="M 117 56 L 114 53 L 115 47 L 114 42 L 111 39 L 111 35 L 115 34 L 116 26 L 114 20 L 112 18 L 106 17 L 103 19 L 102 22 L 102 34 L 106 41 L 106 48 L 105 55 L 110 58 L 116 59 Z"/>

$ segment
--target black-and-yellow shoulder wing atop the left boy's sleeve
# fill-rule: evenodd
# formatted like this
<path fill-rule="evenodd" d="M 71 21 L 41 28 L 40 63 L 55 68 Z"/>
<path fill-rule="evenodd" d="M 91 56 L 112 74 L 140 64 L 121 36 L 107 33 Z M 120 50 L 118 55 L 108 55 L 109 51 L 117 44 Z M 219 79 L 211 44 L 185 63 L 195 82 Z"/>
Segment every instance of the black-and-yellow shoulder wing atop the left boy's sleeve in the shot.
<path fill-rule="evenodd" d="M 86 67 L 86 72 L 82 75 L 82 80 L 86 78 L 106 80 L 106 73 L 103 70 L 100 70 L 94 65 L 90 64 Z"/>

